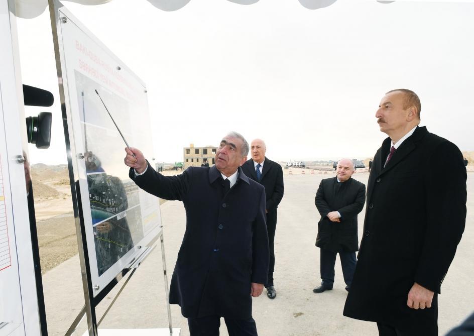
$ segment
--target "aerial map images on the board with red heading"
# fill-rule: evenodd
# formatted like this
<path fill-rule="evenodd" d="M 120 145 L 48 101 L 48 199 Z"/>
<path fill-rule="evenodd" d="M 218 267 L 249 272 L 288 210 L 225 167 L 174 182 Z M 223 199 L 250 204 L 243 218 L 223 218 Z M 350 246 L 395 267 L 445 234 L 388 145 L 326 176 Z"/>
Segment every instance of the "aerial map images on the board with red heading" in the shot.
<path fill-rule="evenodd" d="M 116 175 L 128 172 L 122 164 L 125 144 L 95 90 L 107 101 L 121 131 L 130 135 L 129 104 L 78 71 L 75 79 L 82 105 L 84 160 L 100 276 L 144 237 L 139 188 L 128 175 Z"/>

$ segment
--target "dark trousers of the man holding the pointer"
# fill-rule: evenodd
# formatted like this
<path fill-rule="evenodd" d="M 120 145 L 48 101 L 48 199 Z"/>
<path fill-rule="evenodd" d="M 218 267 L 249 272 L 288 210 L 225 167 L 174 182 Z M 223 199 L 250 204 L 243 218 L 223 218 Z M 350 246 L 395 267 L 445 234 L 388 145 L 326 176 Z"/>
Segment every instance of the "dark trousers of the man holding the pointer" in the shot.
<path fill-rule="evenodd" d="M 229 336 L 258 336 L 252 316 L 249 319 L 224 318 L 224 321 Z M 220 316 L 188 318 L 188 326 L 191 336 L 219 336 Z"/>

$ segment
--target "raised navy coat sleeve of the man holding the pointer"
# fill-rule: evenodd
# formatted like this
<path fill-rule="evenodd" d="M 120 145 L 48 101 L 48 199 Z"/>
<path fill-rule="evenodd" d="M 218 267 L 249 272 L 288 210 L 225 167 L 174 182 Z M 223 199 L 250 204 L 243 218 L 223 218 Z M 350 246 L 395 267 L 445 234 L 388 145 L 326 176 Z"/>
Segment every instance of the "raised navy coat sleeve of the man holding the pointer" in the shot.
<path fill-rule="evenodd" d="M 168 200 L 183 200 L 191 185 L 192 169 L 189 167 L 182 174 L 176 176 L 163 176 L 157 173 L 148 163 L 147 171 L 143 175 L 135 175 L 130 168 L 129 177 L 143 190 L 152 195 Z"/>

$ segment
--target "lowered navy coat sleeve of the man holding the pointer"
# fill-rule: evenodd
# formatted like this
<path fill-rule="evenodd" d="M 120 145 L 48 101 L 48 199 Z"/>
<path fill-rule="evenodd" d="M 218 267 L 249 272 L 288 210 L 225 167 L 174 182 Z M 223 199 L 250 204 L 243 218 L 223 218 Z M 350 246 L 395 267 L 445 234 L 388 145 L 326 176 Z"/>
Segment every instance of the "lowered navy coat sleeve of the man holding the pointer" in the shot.
<path fill-rule="evenodd" d="M 251 282 L 266 284 L 269 268 L 269 245 L 265 214 L 265 188 L 262 186 L 257 217 L 253 223 Z"/>

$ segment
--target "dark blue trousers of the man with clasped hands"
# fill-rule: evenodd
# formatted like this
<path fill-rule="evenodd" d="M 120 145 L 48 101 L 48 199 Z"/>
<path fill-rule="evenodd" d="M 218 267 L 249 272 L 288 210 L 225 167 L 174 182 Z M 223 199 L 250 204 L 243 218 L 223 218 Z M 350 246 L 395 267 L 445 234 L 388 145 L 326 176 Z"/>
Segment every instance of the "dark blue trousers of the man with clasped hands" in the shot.
<path fill-rule="evenodd" d="M 327 288 L 332 288 L 334 283 L 334 265 L 336 264 L 337 252 L 332 252 L 324 249 L 321 250 L 321 279 L 322 284 Z M 356 252 L 338 252 L 341 260 L 342 274 L 344 282 L 350 287 L 354 271 L 356 271 Z"/>

